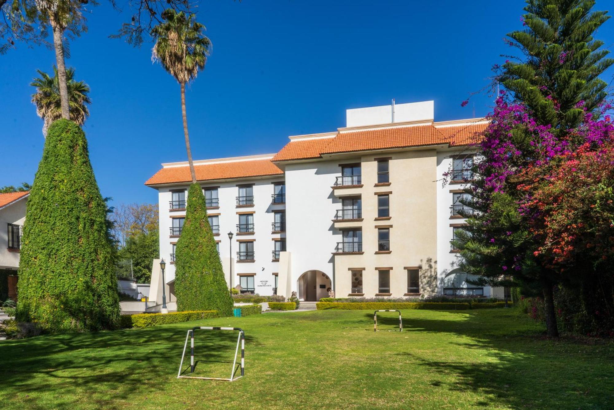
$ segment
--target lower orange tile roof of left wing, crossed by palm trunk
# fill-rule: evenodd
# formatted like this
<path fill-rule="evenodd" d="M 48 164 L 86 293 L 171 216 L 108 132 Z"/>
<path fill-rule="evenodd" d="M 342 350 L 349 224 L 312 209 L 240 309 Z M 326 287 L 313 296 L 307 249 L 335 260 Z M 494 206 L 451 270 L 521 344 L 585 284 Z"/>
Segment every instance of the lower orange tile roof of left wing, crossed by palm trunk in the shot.
<path fill-rule="evenodd" d="M 278 168 L 270 159 L 245 160 L 221 163 L 196 164 L 196 179 L 198 181 L 249 178 L 283 175 L 284 171 Z M 174 184 L 190 182 L 190 167 L 169 166 L 160 169 L 147 180 L 145 185 Z"/>

